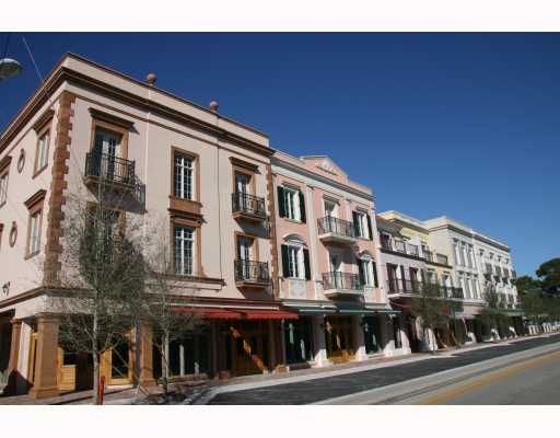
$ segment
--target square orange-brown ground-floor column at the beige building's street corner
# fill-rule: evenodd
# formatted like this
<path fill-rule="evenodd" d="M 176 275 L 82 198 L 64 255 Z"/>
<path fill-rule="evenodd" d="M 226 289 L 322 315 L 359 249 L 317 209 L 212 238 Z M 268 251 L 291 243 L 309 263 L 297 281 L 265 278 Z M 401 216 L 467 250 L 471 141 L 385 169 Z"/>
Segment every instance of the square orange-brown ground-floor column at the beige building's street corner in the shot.
<path fill-rule="evenodd" d="M 35 381 L 30 391 L 32 399 L 59 395 L 57 382 L 57 350 L 59 322 L 54 315 L 37 318 L 37 344 L 35 353 Z"/>

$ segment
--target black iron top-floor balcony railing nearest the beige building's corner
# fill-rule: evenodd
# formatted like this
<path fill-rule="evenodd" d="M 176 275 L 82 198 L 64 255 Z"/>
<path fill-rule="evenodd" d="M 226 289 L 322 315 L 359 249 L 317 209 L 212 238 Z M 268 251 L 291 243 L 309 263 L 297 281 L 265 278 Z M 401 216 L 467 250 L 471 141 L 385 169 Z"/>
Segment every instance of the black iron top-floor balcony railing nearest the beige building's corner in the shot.
<path fill-rule="evenodd" d="M 85 176 L 126 185 L 136 184 L 135 162 L 98 151 L 85 155 Z"/>

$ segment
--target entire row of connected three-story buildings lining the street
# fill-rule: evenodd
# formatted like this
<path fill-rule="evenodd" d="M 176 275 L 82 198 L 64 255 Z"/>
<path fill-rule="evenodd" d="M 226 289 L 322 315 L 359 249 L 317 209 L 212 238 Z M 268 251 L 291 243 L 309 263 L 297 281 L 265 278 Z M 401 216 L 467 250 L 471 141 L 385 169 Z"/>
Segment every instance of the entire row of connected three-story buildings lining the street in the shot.
<path fill-rule="evenodd" d="M 373 191 L 329 158 L 277 151 L 215 102 L 201 107 L 155 81 L 67 54 L 0 137 L 0 376 L 9 392 L 92 387 L 91 355 L 61 342 L 52 302 L 77 292 L 65 281 L 72 199 L 100 205 L 104 191 L 119 199 L 107 206 L 115 222 L 136 221 L 165 241 L 174 309 L 208 322 L 165 342 L 172 377 L 424 349 L 410 312 L 424 281 L 460 299 L 464 320 L 490 284 L 517 312 L 503 243 L 446 218 L 376 216 Z M 160 377 L 153 336 L 139 325 L 103 354 L 107 384 Z"/>

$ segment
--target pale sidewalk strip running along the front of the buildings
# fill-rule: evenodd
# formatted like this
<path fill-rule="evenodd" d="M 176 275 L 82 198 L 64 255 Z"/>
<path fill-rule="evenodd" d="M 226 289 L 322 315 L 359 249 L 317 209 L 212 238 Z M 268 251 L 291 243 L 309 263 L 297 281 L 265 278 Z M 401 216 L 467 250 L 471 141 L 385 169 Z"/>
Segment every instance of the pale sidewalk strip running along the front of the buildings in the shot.
<path fill-rule="evenodd" d="M 430 359 L 432 357 L 452 356 L 454 353 L 459 351 L 492 348 L 497 345 L 518 343 L 537 337 L 548 337 L 550 335 L 555 335 L 555 333 L 539 334 L 536 336 L 523 336 L 492 343 L 472 344 L 459 348 L 446 348 L 444 350 L 439 350 L 438 355 L 435 356 L 431 353 L 415 353 L 411 355 L 393 357 L 377 356 L 360 362 L 338 364 L 324 368 L 307 368 L 276 374 L 243 376 L 228 380 L 214 379 L 177 382 L 172 383 L 171 389 L 176 392 L 180 392 L 186 396 L 184 404 L 205 404 L 208 400 L 211 400 L 217 394 L 224 392 L 272 387 L 284 383 L 322 379 L 332 376 L 343 376 L 353 372 L 392 367 L 395 365 L 417 362 Z M 151 387 L 145 389 L 144 392 L 145 391 L 148 394 L 142 394 L 141 392 L 137 394 L 136 388 L 132 388 L 131 385 L 113 387 L 106 390 L 104 401 L 105 404 L 151 404 L 153 403 L 153 400 L 162 393 L 161 387 Z M 0 405 L 90 404 L 92 400 L 92 391 L 90 390 L 67 393 L 56 397 L 42 400 L 33 400 L 28 395 L 0 396 Z"/>

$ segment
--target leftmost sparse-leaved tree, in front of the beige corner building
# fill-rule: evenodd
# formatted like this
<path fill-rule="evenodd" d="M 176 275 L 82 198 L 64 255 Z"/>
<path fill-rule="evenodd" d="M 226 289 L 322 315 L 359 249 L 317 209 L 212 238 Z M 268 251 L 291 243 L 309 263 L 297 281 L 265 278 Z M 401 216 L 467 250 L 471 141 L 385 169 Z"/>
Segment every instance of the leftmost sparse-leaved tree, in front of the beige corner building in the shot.
<path fill-rule="evenodd" d="M 60 343 L 70 351 L 92 355 L 95 404 L 100 358 L 128 342 L 141 314 L 147 275 L 141 220 L 127 217 L 122 198 L 98 185 L 93 200 L 84 193 L 68 196 L 62 269 L 50 299 L 61 319 Z"/>

